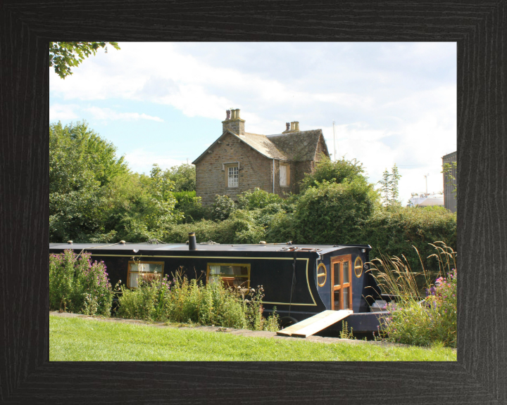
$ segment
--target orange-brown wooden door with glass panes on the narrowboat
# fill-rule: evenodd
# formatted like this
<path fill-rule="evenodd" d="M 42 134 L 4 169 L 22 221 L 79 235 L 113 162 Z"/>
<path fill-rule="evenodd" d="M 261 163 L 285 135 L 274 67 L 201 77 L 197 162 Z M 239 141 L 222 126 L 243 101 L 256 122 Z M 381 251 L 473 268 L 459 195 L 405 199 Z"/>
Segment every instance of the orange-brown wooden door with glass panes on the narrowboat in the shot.
<path fill-rule="evenodd" d="M 331 258 L 331 309 L 352 309 L 352 255 Z"/>

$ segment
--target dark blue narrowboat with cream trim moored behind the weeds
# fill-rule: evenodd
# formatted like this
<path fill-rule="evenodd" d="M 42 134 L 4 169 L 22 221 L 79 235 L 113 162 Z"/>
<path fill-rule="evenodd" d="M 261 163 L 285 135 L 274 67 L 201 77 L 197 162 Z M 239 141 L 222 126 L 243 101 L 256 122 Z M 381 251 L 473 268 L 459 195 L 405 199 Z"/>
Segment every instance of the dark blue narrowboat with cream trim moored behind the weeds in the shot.
<path fill-rule="evenodd" d="M 104 261 L 111 285 L 118 281 L 136 288 L 139 276 L 175 274 L 201 277 L 206 283 L 219 276 L 228 285 L 264 289 L 265 313 L 276 309 L 282 327 L 323 311 L 348 310 L 344 321 L 354 333 L 377 332 L 387 297 L 370 274 L 370 245 L 292 245 L 259 243 L 225 245 L 196 243 L 51 243 L 49 253 L 89 252 Z M 266 314 L 266 315 L 267 315 Z M 342 322 L 326 328 L 339 331 Z"/>

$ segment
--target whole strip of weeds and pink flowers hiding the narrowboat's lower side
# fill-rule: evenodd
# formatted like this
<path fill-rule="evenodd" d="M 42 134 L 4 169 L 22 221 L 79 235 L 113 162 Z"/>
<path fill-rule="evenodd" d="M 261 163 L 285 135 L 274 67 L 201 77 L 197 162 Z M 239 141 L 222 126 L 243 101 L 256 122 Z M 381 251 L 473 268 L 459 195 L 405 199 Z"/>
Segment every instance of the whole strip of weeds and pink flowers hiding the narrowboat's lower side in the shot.
<path fill-rule="evenodd" d="M 111 316 L 115 292 L 103 262 L 89 253 L 66 250 L 49 257 L 49 308 L 77 314 Z M 223 283 L 204 285 L 176 272 L 162 279 L 139 281 L 133 290 L 115 287 L 119 294 L 116 316 L 144 321 L 197 323 L 251 330 L 279 329 L 278 316 L 263 316 L 263 288 L 225 288 Z"/>

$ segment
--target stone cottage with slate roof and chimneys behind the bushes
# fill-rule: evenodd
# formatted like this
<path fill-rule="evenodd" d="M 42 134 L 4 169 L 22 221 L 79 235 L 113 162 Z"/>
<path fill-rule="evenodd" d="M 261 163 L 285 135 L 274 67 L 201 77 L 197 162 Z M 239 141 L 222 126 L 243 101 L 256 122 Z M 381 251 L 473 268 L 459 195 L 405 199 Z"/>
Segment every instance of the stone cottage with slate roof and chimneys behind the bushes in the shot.
<path fill-rule="evenodd" d="M 322 155 L 329 157 L 322 129 L 300 131 L 299 122 L 287 122 L 281 134 L 251 134 L 239 110 L 227 110 L 222 124 L 222 135 L 192 162 L 203 205 L 213 203 L 216 194 L 236 200 L 256 187 L 281 197 L 297 193 L 304 174 L 315 171 Z"/>

